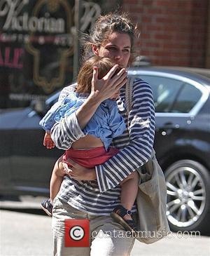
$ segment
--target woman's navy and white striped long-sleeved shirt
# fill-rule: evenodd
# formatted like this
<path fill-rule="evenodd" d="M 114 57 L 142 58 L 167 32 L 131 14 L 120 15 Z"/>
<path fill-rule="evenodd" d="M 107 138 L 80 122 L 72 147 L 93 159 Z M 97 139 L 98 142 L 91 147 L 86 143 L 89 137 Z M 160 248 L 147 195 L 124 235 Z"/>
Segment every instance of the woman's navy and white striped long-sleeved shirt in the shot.
<path fill-rule="evenodd" d="M 62 100 L 75 84 L 62 90 Z M 120 152 L 96 166 L 97 180 L 77 181 L 64 177 L 58 197 L 74 208 L 92 215 L 109 215 L 120 204 L 120 182 L 150 159 L 155 135 L 155 108 L 151 86 L 141 79 L 134 80 L 132 109 L 127 116 L 125 86 L 120 89 L 118 110 L 125 119 L 123 135 L 113 139 L 112 146 Z M 128 123 L 128 125 L 127 125 Z M 129 129 L 128 127 L 129 126 Z M 69 149 L 71 144 L 84 137 L 76 114 L 64 117 L 51 130 L 52 140 L 59 149 Z M 133 210 L 135 207 L 133 208 Z"/>

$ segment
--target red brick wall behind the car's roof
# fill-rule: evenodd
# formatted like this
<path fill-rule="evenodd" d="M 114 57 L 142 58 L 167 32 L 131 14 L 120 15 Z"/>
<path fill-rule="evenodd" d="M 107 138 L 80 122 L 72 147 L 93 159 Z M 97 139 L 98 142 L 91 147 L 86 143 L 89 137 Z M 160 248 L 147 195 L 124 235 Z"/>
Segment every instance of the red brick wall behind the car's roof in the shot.
<path fill-rule="evenodd" d="M 205 67 L 209 0 L 124 0 L 139 24 L 137 53 L 153 65 Z"/>

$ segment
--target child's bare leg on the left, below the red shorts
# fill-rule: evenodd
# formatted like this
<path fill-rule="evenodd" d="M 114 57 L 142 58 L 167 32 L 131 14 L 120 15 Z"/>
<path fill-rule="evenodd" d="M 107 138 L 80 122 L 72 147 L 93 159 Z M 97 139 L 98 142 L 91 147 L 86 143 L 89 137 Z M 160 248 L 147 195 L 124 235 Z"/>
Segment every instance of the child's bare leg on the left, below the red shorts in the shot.
<path fill-rule="evenodd" d="M 62 165 L 62 156 L 56 161 L 55 166 L 52 170 L 52 176 L 50 179 L 50 203 L 52 203 L 55 196 L 59 192 L 59 188 L 62 184 L 64 175 L 64 168 Z"/>

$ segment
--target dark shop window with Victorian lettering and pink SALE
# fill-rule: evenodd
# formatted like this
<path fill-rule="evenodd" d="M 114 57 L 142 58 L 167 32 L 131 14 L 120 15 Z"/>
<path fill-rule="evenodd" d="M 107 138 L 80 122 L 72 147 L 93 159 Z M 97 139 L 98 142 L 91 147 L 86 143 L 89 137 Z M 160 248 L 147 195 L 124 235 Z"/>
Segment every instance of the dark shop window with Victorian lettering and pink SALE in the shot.
<path fill-rule="evenodd" d="M 79 30 L 87 32 L 101 8 L 92 1 L 81 3 Z M 27 101 L 71 83 L 74 36 L 78 36 L 73 4 L 70 0 L 0 0 L 0 94 L 10 83 L 10 100 Z"/>

